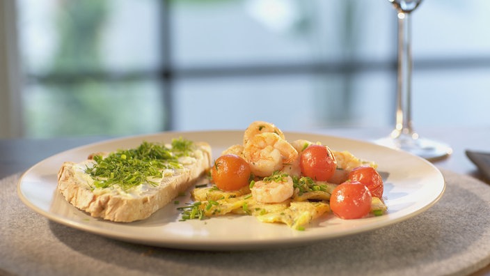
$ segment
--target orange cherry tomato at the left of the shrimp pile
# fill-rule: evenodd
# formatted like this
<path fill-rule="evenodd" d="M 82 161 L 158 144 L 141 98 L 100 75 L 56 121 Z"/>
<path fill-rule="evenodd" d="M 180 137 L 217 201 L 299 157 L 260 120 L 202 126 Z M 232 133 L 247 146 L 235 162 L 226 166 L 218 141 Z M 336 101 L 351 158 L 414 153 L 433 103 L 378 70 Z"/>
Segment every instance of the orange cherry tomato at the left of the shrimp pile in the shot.
<path fill-rule="evenodd" d="M 221 155 L 211 169 L 214 184 L 223 191 L 235 191 L 249 185 L 251 174 L 250 165 L 235 154 Z"/>

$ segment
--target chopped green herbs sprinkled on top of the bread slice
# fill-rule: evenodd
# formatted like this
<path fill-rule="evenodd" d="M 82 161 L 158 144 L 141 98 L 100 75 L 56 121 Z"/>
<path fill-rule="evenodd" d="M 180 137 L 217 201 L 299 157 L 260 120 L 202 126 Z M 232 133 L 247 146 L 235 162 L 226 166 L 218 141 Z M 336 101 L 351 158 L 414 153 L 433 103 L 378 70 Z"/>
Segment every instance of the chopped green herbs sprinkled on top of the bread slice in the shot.
<path fill-rule="evenodd" d="M 150 183 L 158 185 L 150 178 L 161 178 L 164 169 L 181 168 L 177 158 L 189 155 L 193 142 L 186 139 L 173 139 L 172 146 L 143 141 L 137 148 L 118 150 L 106 158 L 95 155 L 95 165 L 85 169 L 94 179 L 94 188 L 119 185 L 122 190 Z"/>

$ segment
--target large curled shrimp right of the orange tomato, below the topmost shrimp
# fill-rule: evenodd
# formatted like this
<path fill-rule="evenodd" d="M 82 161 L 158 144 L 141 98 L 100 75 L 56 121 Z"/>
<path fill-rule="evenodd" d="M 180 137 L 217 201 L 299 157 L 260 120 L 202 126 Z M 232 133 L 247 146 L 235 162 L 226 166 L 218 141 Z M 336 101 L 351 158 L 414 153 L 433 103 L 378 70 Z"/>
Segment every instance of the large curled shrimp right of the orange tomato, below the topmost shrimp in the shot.
<path fill-rule="evenodd" d="M 285 163 L 296 160 L 298 152 L 276 133 L 264 132 L 248 140 L 244 158 L 255 176 L 270 176 L 283 169 Z"/>

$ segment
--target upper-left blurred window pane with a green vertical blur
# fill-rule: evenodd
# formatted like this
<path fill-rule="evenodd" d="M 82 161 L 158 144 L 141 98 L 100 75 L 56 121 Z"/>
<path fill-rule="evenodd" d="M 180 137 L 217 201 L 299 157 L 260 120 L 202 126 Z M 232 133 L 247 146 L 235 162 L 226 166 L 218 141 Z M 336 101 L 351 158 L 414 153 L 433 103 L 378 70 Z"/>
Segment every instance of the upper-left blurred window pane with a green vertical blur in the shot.
<path fill-rule="evenodd" d="M 161 65 L 157 0 L 19 0 L 18 7 L 20 47 L 30 73 Z"/>

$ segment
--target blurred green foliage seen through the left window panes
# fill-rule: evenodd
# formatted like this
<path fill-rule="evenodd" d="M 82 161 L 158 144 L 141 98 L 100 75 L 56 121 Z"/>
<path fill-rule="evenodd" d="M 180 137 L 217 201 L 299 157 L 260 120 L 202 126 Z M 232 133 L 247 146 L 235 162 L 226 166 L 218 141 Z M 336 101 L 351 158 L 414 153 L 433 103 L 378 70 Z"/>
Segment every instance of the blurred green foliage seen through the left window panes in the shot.
<path fill-rule="evenodd" d="M 27 135 L 133 135 L 164 128 L 157 82 L 104 77 L 110 75 L 100 59 L 102 30 L 109 15 L 106 3 L 61 3 L 51 69 L 24 95 L 29 97 L 24 101 L 26 130 L 31 132 Z"/>

